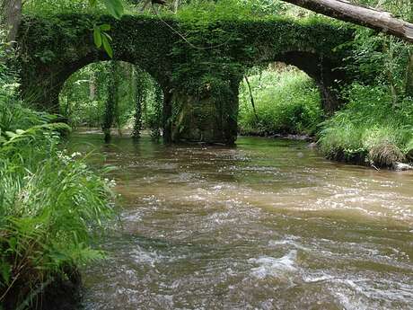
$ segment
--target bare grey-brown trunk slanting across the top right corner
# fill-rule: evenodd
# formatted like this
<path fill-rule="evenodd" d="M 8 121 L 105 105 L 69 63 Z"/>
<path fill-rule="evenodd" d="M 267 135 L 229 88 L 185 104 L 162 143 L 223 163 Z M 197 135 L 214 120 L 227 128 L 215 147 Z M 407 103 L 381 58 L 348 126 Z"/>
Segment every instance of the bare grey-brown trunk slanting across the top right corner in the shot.
<path fill-rule="evenodd" d="M 373 30 L 392 34 L 402 40 L 413 42 L 413 24 L 397 19 L 391 13 L 351 4 L 344 0 L 282 0 L 301 6 L 315 13 L 353 22 Z"/>

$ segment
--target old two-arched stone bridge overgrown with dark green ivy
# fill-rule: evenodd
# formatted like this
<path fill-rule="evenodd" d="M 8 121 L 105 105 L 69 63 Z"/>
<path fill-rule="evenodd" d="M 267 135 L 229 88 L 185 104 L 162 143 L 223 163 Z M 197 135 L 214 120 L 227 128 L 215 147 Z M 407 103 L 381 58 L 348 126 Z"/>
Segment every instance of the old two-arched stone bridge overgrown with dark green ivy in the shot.
<path fill-rule="evenodd" d="M 312 76 L 326 111 L 338 108 L 339 68 L 352 31 L 328 22 L 178 21 L 126 15 L 25 16 L 19 34 L 22 93 L 57 111 L 66 79 L 108 55 L 92 39 L 93 25 L 110 23 L 114 60 L 145 69 L 163 89 L 163 130 L 169 141 L 231 144 L 237 134 L 238 89 L 251 66 L 282 61 Z"/>

